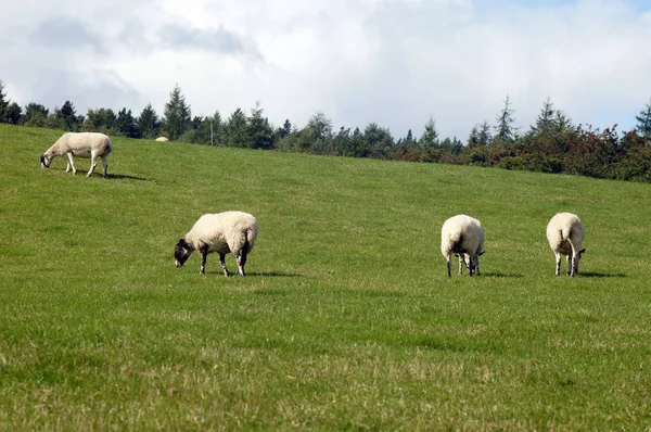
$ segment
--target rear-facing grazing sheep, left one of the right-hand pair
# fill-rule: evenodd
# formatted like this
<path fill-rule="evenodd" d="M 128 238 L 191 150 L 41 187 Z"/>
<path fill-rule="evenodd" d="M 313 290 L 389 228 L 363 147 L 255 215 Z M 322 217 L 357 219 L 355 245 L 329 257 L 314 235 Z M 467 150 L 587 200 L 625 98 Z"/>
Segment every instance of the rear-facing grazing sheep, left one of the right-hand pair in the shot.
<path fill-rule="evenodd" d="M 459 257 L 459 275 L 463 264 L 468 267 L 469 276 L 481 275 L 480 256 L 484 255 L 484 228 L 482 224 L 470 216 L 457 215 L 447 219 L 441 229 L 441 253 L 447 261 L 448 277 L 452 276 L 452 254 Z"/>

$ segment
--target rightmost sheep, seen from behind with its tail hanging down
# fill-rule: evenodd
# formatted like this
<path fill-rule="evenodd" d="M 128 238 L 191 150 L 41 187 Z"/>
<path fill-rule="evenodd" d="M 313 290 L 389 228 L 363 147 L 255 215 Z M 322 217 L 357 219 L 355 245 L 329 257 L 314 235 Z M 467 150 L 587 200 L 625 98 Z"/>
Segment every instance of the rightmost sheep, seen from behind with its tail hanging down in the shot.
<path fill-rule="evenodd" d="M 561 255 L 567 258 L 567 275 L 578 275 L 578 262 L 585 249 L 580 245 L 586 238 L 586 228 L 573 213 L 557 213 L 547 225 L 547 240 L 556 254 L 556 276 L 561 276 Z"/>

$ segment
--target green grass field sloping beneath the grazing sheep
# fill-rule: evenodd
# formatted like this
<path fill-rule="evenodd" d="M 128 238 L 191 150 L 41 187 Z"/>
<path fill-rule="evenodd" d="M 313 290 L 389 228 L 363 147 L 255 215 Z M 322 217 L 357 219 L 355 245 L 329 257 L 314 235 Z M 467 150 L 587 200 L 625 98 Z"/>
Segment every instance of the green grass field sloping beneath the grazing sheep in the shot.
<path fill-rule="evenodd" d="M 650 185 L 120 138 L 87 179 L 41 169 L 60 135 L 0 125 L 0 430 L 651 427 Z M 259 223 L 247 276 L 176 268 L 226 209 Z M 476 278 L 439 252 L 460 213 Z"/>

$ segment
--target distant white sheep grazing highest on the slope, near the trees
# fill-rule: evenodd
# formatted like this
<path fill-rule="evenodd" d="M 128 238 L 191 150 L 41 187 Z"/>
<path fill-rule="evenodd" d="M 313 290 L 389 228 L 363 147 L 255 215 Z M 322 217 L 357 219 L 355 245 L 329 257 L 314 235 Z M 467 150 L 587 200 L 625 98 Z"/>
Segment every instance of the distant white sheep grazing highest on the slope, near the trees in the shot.
<path fill-rule="evenodd" d="M 75 164 L 73 162 L 73 156 L 90 157 L 90 169 L 86 175 L 86 177 L 90 177 L 98 165 L 98 157 L 101 157 L 102 164 L 104 165 L 104 174 L 102 177 L 106 178 L 106 170 L 108 168 L 106 157 L 112 151 L 113 143 L 104 134 L 66 132 L 41 155 L 41 167 L 49 168 L 52 160 L 55 156 L 66 156 L 67 166 L 65 171 L 69 171 L 72 167 L 73 174 L 77 174 L 77 169 L 75 168 Z"/>

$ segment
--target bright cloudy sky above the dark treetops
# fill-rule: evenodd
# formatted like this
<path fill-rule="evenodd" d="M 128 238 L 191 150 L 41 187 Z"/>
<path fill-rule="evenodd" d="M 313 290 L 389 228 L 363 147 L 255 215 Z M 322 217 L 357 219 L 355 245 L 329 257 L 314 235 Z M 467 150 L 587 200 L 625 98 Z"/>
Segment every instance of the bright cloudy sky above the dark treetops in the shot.
<path fill-rule="evenodd" d="M 630 130 L 651 103 L 648 0 L 22 0 L 2 7 L 9 99 L 77 114 L 256 103 L 281 126 L 322 113 L 397 140 L 465 141 L 507 96 L 525 132 L 549 98 L 574 124 Z"/>

